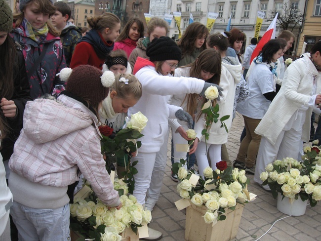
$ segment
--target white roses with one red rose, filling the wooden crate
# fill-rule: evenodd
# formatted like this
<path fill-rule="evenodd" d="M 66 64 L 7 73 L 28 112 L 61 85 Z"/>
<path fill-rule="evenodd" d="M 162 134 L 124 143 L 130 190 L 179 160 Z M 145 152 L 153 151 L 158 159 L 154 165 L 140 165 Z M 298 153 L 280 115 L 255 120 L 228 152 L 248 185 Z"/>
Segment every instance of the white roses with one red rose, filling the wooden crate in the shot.
<path fill-rule="evenodd" d="M 205 205 L 207 211 L 203 216 L 205 223 L 225 220 L 225 209 L 235 210 L 237 203 L 244 204 L 250 200 L 247 184 L 249 179 L 244 170 L 227 167 L 226 161 L 216 163 L 216 170 L 204 169 L 204 179 L 200 177 L 196 185 L 191 183 L 194 175 L 180 163 L 173 164 L 173 172 L 177 174 L 179 184 L 177 191 L 183 199 L 190 199 L 196 206 Z"/>

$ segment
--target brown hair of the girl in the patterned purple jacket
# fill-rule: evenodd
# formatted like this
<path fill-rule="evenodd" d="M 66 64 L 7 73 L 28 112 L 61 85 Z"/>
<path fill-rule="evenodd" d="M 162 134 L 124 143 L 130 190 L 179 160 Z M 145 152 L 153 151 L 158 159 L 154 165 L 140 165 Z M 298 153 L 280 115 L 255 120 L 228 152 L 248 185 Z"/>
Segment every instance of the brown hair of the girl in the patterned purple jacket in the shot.
<path fill-rule="evenodd" d="M 56 12 L 56 7 L 51 3 L 50 0 L 31 0 L 26 4 L 26 6 L 23 8 L 26 9 L 27 6 L 30 6 L 31 4 L 35 3 L 35 5 L 38 7 L 38 10 L 41 13 L 49 14 L 49 18 L 46 21 L 49 33 L 53 36 L 60 36 L 60 32 L 58 32 L 51 24 L 50 17 L 52 14 Z M 23 11 L 19 13 L 13 14 L 13 19 L 15 20 L 16 28 L 19 27 L 22 24 L 23 18 L 25 17 L 25 13 Z"/>

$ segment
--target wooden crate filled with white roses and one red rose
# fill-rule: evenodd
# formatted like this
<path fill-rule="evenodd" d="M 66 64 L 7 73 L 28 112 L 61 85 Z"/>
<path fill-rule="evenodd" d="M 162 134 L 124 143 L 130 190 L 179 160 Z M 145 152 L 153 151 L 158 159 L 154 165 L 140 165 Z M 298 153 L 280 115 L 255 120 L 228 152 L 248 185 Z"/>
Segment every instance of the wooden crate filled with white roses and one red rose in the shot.
<path fill-rule="evenodd" d="M 220 161 L 216 164 L 216 170 L 206 167 L 202 179 L 188 172 L 183 167 L 184 163 L 181 160 L 172 169 L 177 173 L 177 191 L 183 198 L 175 204 L 179 210 L 187 208 L 185 240 L 234 239 L 239 229 L 243 205 L 255 199 L 255 195 L 247 191 L 249 179 L 245 171 L 227 167 L 226 161 Z"/>

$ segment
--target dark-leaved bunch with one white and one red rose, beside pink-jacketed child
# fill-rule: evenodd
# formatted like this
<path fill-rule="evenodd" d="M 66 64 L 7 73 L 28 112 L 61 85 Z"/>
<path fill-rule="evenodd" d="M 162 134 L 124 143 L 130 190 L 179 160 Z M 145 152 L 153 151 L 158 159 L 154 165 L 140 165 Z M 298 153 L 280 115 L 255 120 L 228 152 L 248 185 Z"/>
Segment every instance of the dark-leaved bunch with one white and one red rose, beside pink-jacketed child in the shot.
<path fill-rule="evenodd" d="M 102 135 L 102 154 L 106 158 L 106 169 L 111 172 L 110 166 L 112 163 L 117 162 L 118 159 L 128 160 L 125 165 L 126 171 L 124 173 L 124 182 L 128 183 L 129 193 L 134 191 L 134 175 L 137 173 L 137 169 L 134 167 L 137 161 L 131 162 L 130 158 L 132 153 L 138 152 L 138 148 L 141 147 L 141 142 L 136 139 L 144 136 L 141 131 L 145 128 L 148 119 L 141 113 L 131 115 L 131 120 L 126 119 L 126 128 L 121 129 L 112 136 L 113 129 L 108 126 L 100 127 L 100 133 Z"/>

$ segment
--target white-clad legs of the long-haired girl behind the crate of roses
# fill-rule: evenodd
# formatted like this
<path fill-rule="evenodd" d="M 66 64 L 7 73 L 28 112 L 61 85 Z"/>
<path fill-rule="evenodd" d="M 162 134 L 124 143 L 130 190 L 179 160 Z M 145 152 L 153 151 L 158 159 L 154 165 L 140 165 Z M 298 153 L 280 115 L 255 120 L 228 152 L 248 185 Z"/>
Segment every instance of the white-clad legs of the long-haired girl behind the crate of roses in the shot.
<path fill-rule="evenodd" d="M 208 156 L 211 161 L 211 167 L 213 170 L 216 169 L 216 163 L 222 161 L 221 159 L 221 144 L 208 144 L 207 148 L 205 142 L 201 141 L 196 149 L 195 156 L 197 160 L 197 164 L 199 166 L 199 173 L 204 178 L 203 170 L 205 167 L 209 166 L 209 162 L 207 160 L 206 152 L 208 152 Z"/>

